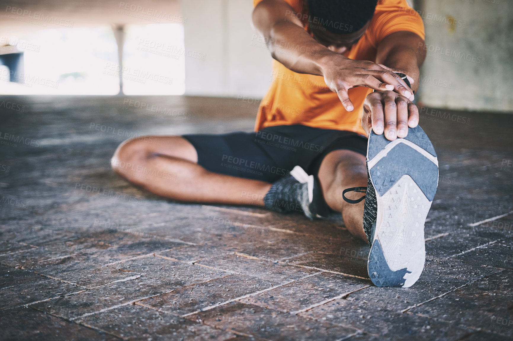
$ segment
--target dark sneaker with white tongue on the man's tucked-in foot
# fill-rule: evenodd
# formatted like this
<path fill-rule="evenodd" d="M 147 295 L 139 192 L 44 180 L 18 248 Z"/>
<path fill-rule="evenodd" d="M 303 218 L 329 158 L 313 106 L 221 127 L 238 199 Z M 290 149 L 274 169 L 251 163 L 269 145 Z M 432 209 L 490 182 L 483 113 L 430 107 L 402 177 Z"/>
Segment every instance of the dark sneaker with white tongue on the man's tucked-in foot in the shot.
<path fill-rule="evenodd" d="M 264 197 L 265 207 L 282 213 L 303 212 L 310 219 L 329 217 L 319 181 L 295 166 L 290 175 L 273 183 Z"/>

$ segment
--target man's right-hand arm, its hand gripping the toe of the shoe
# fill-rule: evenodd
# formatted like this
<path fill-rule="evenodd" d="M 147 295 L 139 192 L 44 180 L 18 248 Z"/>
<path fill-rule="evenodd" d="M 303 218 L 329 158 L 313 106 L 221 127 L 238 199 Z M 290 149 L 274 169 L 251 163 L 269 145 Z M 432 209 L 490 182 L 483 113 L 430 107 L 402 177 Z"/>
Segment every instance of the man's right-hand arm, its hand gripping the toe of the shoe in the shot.
<path fill-rule="evenodd" d="M 417 34 L 400 31 L 386 36 L 378 46 L 376 62 L 409 76 L 412 90 L 419 89 L 419 67 L 425 59 L 424 40 Z M 417 106 L 408 98 L 391 91 L 373 92 L 363 104 L 362 127 L 367 134 L 385 134 L 389 140 L 404 138 L 408 126 L 419 124 Z"/>

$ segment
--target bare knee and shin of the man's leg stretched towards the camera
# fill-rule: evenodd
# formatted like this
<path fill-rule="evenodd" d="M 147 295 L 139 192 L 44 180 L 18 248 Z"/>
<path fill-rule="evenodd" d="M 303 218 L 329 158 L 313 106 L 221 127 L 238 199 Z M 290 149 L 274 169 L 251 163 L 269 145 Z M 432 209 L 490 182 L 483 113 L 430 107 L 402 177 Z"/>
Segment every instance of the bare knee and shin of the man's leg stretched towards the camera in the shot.
<path fill-rule="evenodd" d="M 323 189 L 324 199 L 329 207 L 342 212 L 344 224 L 352 235 L 367 241 L 367 236 L 363 230 L 363 205 L 365 201 L 350 204 L 342 198 L 342 191 L 345 188 L 367 186 L 365 156 L 348 150 L 330 152 L 321 163 L 318 177 Z M 362 195 L 353 193 L 347 196 L 350 199 L 358 199 Z"/>

